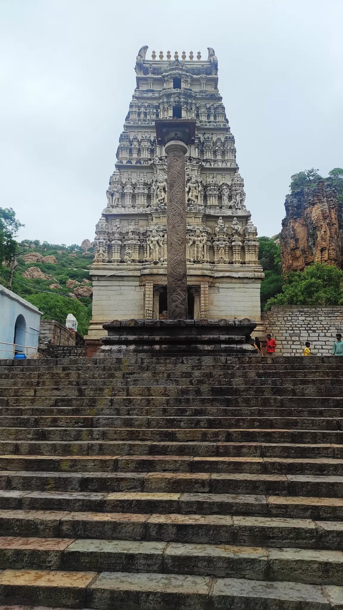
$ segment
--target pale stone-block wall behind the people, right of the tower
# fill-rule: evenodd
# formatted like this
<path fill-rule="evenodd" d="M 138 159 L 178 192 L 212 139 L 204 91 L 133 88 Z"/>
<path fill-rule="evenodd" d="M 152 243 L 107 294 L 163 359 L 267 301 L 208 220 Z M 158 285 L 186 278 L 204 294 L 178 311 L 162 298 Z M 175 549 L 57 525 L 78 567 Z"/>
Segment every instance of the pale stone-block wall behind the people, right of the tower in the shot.
<path fill-rule="evenodd" d="M 300 307 L 276 305 L 262 312 L 265 332 L 276 340 L 276 356 L 298 356 L 303 353 L 305 341 L 318 356 L 332 352 L 336 332 L 343 335 L 343 306 Z"/>

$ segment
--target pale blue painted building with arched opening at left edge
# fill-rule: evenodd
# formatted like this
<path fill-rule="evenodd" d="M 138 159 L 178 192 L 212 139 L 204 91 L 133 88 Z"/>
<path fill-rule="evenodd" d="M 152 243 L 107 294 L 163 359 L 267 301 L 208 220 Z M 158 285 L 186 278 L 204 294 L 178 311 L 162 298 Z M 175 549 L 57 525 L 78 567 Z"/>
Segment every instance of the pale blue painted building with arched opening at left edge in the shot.
<path fill-rule="evenodd" d="M 37 353 L 40 312 L 0 284 L 0 358 L 13 358 L 15 352 L 26 356 Z"/>

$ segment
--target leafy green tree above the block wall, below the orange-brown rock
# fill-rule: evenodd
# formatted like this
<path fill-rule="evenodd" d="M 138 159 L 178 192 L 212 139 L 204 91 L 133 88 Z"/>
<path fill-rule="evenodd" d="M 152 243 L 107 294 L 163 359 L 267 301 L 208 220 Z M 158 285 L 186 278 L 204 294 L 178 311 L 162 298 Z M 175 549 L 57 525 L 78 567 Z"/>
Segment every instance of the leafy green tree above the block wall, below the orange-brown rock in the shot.
<path fill-rule="evenodd" d="M 334 265 L 316 263 L 304 271 L 289 271 L 282 292 L 267 301 L 272 305 L 340 305 L 343 304 L 343 271 Z"/>

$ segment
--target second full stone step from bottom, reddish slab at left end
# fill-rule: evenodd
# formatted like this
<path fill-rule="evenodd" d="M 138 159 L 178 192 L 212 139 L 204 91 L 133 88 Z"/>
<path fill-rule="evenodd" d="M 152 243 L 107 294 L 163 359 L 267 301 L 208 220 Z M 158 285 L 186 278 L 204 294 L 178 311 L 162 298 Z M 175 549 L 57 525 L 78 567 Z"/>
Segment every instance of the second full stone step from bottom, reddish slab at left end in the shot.
<path fill-rule="evenodd" d="M 0 569 L 111 570 L 343 584 L 343 551 L 146 540 L 0 537 Z M 105 566 L 105 567 L 104 567 Z"/>

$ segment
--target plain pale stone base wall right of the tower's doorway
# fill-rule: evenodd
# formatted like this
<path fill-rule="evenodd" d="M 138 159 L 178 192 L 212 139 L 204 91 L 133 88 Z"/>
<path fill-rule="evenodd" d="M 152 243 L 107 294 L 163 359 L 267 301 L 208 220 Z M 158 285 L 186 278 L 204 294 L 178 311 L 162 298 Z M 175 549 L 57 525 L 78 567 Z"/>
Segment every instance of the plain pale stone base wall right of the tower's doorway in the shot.
<path fill-rule="evenodd" d="M 211 318 L 261 318 L 260 279 L 222 278 L 209 287 Z"/>

